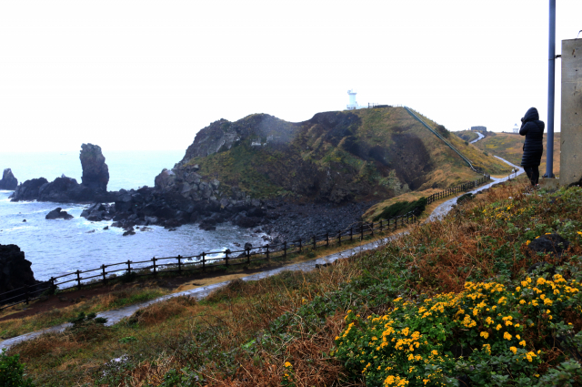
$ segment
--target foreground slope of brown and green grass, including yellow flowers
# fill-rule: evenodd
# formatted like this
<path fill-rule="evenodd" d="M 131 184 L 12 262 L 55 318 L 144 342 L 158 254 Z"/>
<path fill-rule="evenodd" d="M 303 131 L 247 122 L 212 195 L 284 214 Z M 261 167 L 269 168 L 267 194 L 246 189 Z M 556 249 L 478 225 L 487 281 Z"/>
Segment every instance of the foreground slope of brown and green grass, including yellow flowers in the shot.
<path fill-rule="evenodd" d="M 547 234 L 567 249 L 537 249 Z M 528 192 L 520 179 L 330 267 L 10 353 L 38 385 L 575 386 L 581 244 L 582 189 Z"/>

